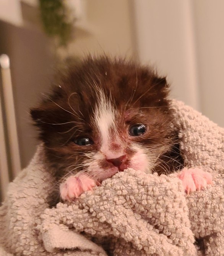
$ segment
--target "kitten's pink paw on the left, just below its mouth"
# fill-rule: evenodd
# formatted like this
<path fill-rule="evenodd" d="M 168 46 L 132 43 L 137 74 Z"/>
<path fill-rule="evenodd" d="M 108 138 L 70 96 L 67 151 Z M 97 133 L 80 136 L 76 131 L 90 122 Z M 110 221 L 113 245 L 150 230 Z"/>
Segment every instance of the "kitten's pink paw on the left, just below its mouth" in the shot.
<path fill-rule="evenodd" d="M 72 202 L 83 192 L 92 190 L 96 182 L 84 174 L 70 176 L 60 185 L 60 195 L 62 200 Z"/>

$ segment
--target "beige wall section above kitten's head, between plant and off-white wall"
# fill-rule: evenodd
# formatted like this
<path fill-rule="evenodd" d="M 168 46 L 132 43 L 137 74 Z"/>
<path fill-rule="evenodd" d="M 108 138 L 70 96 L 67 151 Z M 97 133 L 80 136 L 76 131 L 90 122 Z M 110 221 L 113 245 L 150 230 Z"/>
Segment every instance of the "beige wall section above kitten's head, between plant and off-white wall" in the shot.
<path fill-rule="evenodd" d="M 129 0 L 83 0 L 82 15 L 76 24 L 74 42 L 68 53 L 84 56 L 108 53 L 133 56 L 133 30 Z"/>

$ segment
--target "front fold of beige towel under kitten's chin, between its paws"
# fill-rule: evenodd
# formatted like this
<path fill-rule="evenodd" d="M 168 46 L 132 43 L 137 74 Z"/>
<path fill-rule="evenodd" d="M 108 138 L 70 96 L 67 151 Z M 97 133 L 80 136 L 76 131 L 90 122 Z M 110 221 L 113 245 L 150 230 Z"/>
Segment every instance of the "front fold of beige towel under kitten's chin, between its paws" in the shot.
<path fill-rule="evenodd" d="M 104 181 L 93 194 L 45 210 L 41 219 L 41 233 L 52 230 L 55 223 L 72 223 L 78 232 L 92 237 L 112 235 L 114 244 L 122 238 L 131 245 L 121 245 L 123 254 L 114 255 L 136 251 L 142 251 L 141 255 L 196 255 L 185 193 L 181 181 L 173 176 L 139 175 L 127 169 Z M 136 251 L 127 254 L 124 248 Z"/>

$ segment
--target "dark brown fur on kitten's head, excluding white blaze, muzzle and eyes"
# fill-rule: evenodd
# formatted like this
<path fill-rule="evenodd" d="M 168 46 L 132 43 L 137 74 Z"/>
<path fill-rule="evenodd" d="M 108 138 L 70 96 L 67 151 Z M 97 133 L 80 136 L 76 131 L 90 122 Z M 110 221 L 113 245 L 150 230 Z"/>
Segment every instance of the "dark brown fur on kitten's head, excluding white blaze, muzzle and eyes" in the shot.
<path fill-rule="evenodd" d="M 92 121 L 98 88 L 106 97 L 112 95 L 120 113 L 117 118 L 120 134 L 126 126 L 146 123 L 147 134 L 134 137 L 133 141 L 143 147 L 162 145 L 167 148 L 159 157 L 160 164 L 154 167 L 154 172 L 175 171 L 183 164 L 177 135 L 170 128 L 174 117 L 167 99 L 166 78 L 131 61 L 88 57 L 78 66 L 71 66 L 66 75 L 61 75 L 53 93 L 38 108 L 31 110 L 40 129 L 39 138 L 44 142 L 46 157 L 57 177 L 65 176 L 69 166 L 83 162 L 82 152 L 99 149 L 100 141 Z M 94 144 L 80 148 L 73 142 L 78 136 L 90 137 Z M 117 147 L 119 145 L 111 145 L 112 150 Z M 131 154 L 127 147 L 128 150 Z"/>

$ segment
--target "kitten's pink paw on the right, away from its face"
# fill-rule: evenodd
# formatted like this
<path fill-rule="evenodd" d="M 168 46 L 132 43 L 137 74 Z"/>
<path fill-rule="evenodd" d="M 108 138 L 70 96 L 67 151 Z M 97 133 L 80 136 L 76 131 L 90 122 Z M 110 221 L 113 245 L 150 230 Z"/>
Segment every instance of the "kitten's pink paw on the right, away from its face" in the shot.
<path fill-rule="evenodd" d="M 211 173 L 205 172 L 200 168 L 187 169 L 185 167 L 177 177 L 183 181 L 183 187 L 187 191 L 187 195 L 190 192 L 201 190 L 207 184 L 213 184 Z"/>

